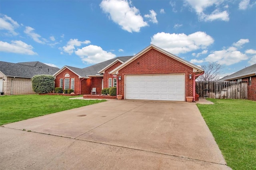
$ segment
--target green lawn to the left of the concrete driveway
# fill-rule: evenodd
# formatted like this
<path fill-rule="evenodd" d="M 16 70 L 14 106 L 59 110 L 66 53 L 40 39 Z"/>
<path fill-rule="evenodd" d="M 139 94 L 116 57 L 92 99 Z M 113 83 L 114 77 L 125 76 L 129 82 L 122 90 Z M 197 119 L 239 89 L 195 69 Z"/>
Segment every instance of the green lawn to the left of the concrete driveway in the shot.
<path fill-rule="evenodd" d="M 106 101 L 69 98 L 72 97 L 36 94 L 0 96 L 0 125 Z"/>

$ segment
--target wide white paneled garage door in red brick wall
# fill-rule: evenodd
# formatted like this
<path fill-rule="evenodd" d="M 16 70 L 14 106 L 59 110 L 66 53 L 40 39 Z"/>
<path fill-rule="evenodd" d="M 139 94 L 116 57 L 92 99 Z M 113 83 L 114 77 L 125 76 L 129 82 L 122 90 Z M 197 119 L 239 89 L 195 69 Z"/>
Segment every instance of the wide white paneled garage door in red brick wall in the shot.
<path fill-rule="evenodd" d="M 184 74 L 126 76 L 126 99 L 184 101 L 184 92 Z"/>

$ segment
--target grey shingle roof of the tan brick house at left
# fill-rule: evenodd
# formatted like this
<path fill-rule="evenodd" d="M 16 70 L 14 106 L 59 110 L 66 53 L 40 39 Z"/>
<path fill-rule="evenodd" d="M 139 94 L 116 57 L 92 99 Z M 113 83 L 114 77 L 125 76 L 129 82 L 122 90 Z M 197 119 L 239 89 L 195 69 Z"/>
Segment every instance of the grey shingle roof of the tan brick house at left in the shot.
<path fill-rule="evenodd" d="M 39 68 L 42 66 L 42 68 Z M 49 68 L 49 72 L 48 72 Z M 8 63 L 0 61 L 0 71 L 6 76 L 32 78 L 37 74 L 53 75 L 59 68 L 48 66 L 39 61 L 25 63 Z"/>

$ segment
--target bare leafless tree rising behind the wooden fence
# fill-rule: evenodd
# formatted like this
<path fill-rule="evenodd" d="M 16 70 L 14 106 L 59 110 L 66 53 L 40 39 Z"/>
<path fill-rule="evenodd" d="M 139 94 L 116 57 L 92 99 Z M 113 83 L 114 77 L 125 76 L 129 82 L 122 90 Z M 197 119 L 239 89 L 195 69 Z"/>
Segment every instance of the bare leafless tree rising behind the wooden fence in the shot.
<path fill-rule="evenodd" d="M 204 74 L 199 76 L 197 81 L 216 81 L 220 79 L 223 65 L 217 63 L 208 63 L 201 66 L 204 69 Z"/>

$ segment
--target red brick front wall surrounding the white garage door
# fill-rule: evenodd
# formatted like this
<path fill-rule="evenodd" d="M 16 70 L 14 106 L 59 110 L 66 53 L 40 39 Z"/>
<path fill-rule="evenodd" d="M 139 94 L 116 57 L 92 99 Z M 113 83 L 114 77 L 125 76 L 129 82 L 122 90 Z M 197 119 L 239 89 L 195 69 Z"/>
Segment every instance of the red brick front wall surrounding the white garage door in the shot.
<path fill-rule="evenodd" d="M 121 80 L 118 81 L 118 94 L 122 94 L 124 98 L 124 75 L 177 73 L 185 73 L 185 96 L 193 96 L 193 76 L 195 75 L 193 68 L 180 63 L 159 51 L 151 49 L 132 63 L 119 70 L 118 76 L 121 76 Z M 191 80 L 189 79 L 189 74 L 192 74 Z"/>

